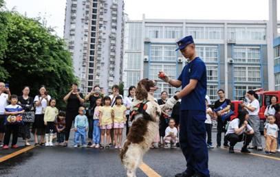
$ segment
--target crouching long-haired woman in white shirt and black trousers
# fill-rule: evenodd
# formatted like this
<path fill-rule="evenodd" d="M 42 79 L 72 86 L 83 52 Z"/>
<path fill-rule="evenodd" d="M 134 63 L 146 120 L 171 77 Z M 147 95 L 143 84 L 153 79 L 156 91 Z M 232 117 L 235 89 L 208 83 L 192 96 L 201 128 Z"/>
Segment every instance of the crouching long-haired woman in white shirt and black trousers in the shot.
<path fill-rule="evenodd" d="M 248 124 L 249 113 L 247 110 L 240 110 L 238 118 L 230 121 L 228 130 L 226 131 L 226 139 L 230 142 L 230 148 L 228 152 L 235 153 L 234 146 L 237 142 L 244 141 L 244 145 L 241 152 L 250 153 L 247 149 L 250 141 L 252 140 L 254 130 Z"/>

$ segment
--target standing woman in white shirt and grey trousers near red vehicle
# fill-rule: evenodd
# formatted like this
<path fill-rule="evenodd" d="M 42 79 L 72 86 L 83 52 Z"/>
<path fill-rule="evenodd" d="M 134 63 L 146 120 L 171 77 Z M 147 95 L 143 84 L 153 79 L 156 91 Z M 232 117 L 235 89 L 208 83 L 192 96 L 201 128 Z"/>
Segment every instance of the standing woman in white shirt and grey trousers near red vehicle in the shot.
<path fill-rule="evenodd" d="M 248 110 L 249 113 L 249 119 L 248 122 L 250 123 L 250 126 L 252 126 L 252 129 L 254 130 L 255 134 L 252 138 L 252 147 L 249 147 L 249 149 L 256 149 L 259 151 L 263 150 L 262 144 L 261 144 L 261 132 L 259 132 L 259 96 L 255 91 L 248 91 L 247 97 L 250 100 L 248 104 L 242 104 L 246 110 Z"/>

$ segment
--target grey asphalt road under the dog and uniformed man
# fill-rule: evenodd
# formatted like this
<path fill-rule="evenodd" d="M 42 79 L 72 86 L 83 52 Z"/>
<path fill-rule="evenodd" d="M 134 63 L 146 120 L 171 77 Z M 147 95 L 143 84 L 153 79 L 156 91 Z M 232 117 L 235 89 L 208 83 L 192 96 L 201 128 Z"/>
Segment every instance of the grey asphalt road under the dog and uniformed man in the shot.
<path fill-rule="evenodd" d="M 215 132 L 213 137 L 215 142 Z M 241 143 L 236 149 L 240 147 Z M 0 161 L 15 151 L 0 150 Z M 257 151 L 252 151 L 253 154 L 236 152 L 228 154 L 225 149 L 209 150 L 211 176 L 279 176 L 280 154 L 265 156 Z M 186 167 L 179 148 L 150 150 L 144 156 L 144 163 L 160 176 L 174 176 Z M 34 147 L 0 163 L 0 176 L 125 176 L 125 169 L 120 163 L 118 150 L 113 148 Z M 147 175 L 138 169 L 137 176 Z"/>

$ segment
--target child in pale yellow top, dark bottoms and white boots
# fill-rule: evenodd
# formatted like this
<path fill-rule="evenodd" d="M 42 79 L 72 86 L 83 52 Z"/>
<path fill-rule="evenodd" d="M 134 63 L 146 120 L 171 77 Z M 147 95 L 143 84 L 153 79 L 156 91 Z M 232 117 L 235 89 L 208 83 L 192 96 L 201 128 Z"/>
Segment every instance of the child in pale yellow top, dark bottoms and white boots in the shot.
<path fill-rule="evenodd" d="M 45 129 L 45 146 L 54 146 L 52 143 L 52 137 L 54 137 L 54 121 L 58 115 L 58 109 L 56 108 L 56 99 L 50 99 L 50 106 L 45 108 L 44 123 Z"/>

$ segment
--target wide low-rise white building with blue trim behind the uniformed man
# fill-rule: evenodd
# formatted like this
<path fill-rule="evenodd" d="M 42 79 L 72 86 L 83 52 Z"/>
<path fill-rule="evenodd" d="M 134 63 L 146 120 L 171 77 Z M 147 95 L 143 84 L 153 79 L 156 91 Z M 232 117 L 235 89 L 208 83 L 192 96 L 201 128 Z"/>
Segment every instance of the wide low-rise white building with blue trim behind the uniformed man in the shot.
<path fill-rule="evenodd" d="M 245 91 L 268 89 L 267 21 L 143 19 L 125 25 L 125 90 L 141 78 L 158 80 L 158 71 L 177 78 L 185 59 L 176 41 L 192 35 L 198 55 L 206 62 L 208 95 L 217 99 L 222 88 L 230 99 Z M 272 66 L 273 67 L 273 66 Z M 175 88 L 158 82 L 170 95 Z"/>

